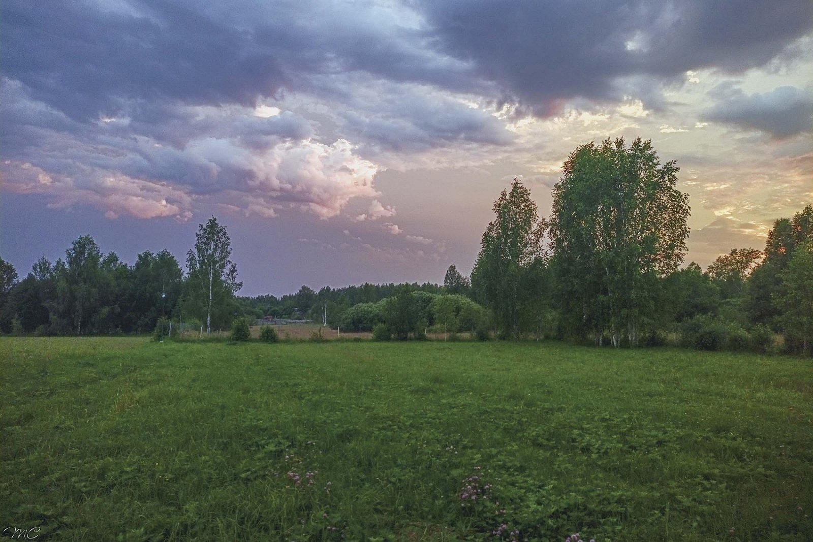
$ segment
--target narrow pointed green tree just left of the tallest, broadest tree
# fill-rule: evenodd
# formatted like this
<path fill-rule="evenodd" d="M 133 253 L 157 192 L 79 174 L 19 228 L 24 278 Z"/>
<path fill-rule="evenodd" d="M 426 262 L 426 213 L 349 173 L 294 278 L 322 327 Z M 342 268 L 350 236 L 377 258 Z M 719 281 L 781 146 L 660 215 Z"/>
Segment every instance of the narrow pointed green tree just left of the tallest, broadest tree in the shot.
<path fill-rule="evenodd" d="M 495 219 L 483 233 L 480 254 L 472 270 L 476 300 L 493 310 L 500 335 L 520 336 L 522 313 L 538 300 L 528 297 L 523 283 L 528 270 L 542 258 L 545 223 L 537 204 L 519 179 L 503 190 L 493 206 Z"/>

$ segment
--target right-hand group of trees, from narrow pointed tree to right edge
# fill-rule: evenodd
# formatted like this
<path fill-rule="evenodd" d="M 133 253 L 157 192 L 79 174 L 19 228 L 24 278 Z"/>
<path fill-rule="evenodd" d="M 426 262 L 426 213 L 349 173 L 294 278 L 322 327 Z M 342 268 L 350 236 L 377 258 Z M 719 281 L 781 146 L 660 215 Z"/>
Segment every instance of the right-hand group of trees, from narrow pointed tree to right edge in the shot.
<path fill-rule="evenodd" d="M 813 206 L 779 219 L 764 251 L 732 249 L 680 268 L 688 196 L 650 141 L 581 145 L 554 187 L 550 220 L 520 180 L 494 203 L 472 297 L 498 336 L 556 336 L 615 347 L 673 341 L 701 349 L 813 344 Z M 546 236 L 547 245 L 543 242 Z"/>

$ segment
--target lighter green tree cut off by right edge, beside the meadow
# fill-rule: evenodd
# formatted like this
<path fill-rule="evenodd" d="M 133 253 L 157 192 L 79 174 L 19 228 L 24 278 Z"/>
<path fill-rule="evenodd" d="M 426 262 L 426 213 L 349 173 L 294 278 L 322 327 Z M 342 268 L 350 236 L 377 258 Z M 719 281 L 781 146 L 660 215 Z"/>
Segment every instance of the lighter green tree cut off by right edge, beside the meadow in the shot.
<path fill-rule="evenodd" d="M 793 250 L 788 268 L 782 273 L 785 291 L 776 297 L 783 310 L 782 323 L 791 340 L 802 343 L 809 352 L 813 343 L 813 241 L 805 241 Z"/>

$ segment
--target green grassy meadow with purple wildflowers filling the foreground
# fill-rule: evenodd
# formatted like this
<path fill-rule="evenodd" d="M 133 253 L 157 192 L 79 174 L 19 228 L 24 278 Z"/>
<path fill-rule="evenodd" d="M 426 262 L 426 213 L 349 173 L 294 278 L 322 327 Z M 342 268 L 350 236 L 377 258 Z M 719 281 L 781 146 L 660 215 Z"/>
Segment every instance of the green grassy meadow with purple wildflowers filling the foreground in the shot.
<path fill-rule="evenodd" d="M 809 359 L 2 338 L 0 406 L 37 540 L 813 540 Z"/>

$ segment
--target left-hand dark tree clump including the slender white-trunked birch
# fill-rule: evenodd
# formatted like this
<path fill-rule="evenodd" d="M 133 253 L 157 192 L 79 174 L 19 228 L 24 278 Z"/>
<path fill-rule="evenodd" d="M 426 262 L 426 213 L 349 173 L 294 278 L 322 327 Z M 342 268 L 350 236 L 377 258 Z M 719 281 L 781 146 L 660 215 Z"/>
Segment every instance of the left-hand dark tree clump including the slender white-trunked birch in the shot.
<path fill-rule="evenodd" d="M 207 332 L 228 328 L 240 314 L 234 293 L 241 286 L 230 254 L 228 233 L 212 217 L 198 228 L 186 273 L 166 249 L 138 254 L 129 266 L 87 235 L 73 241 L 65 258 L 37 260 L 23 280 L 0 259 L 0 331 L 166 336 L 171 320 L 205 321 Z"/>

